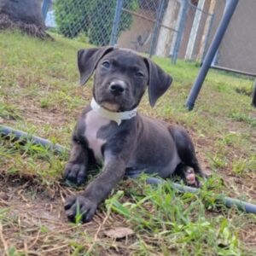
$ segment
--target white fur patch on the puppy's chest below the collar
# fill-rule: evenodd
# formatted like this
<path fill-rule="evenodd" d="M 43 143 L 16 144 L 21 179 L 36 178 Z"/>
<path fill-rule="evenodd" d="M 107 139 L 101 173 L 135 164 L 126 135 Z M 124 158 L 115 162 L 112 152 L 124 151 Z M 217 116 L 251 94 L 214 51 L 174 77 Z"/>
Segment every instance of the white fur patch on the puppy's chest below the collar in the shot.
<path fill-rule="evenodd" d="M 88 141 L 88 147 L 93 151 L 93 154 L 96 157 L 96 160 L 102 160 L 102 145 L 106 143 L 106 140 L 97 137 L 97 132 L 104 125 L 108 125 L 110 123 L 109 119 L 103 118 L 101 115 L 96 113 L 93 110 L 86 113 L 85 116 L 85 137 Z"/>

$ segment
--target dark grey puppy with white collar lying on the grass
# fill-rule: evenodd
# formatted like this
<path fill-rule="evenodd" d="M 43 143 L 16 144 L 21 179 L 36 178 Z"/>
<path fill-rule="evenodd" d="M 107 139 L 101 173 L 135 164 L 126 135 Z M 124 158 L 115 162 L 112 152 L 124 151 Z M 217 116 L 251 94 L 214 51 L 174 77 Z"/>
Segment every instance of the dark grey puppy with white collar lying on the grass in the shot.
<path fill-rule="evenodd" d="M 145 90 L 154 107 L 171 85 L 171 76 L 148 58 L 113 47 L 79 50 L 78 66 L 81 84 L 95 72 L 93 99 L 73 131 L 64 176 L 81 184 L 96 163 L 103 170 L 81 194 L 67 199 L 67 218 L 74 221 L 79 205 L 83 222 L 89 222 L 98 204 L 130 171 L 166 178 L 174 173 L 186 177 L 193 168 L 204 177 L 186 131 L 137 113 Z"/>

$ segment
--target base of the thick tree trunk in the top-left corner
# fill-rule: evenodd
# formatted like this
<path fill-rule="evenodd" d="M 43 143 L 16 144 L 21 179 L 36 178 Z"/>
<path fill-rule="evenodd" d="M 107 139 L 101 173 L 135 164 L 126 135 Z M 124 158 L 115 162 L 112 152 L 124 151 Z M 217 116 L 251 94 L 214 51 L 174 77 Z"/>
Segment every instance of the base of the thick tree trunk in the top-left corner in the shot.
<path fill-rule="evenodd" d="M 0 0 L 0 30 L 20 29 L 38 38 L 48 38 L 40 0 Z"/>

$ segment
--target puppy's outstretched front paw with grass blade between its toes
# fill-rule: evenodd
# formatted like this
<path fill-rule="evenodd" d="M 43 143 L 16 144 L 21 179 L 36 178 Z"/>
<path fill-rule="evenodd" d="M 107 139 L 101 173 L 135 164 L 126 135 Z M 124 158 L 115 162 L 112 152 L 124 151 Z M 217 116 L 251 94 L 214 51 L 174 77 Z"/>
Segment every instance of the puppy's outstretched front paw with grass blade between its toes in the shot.
<path fill-rule="evenodd" d="M 65 202 L 64 205 L 67 218 L 72 222 L 90 222 L 96 212 L 97 204 L 84 197 L 75 195 Z"/>

